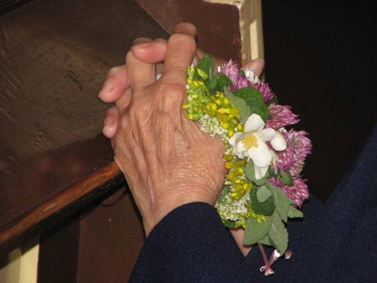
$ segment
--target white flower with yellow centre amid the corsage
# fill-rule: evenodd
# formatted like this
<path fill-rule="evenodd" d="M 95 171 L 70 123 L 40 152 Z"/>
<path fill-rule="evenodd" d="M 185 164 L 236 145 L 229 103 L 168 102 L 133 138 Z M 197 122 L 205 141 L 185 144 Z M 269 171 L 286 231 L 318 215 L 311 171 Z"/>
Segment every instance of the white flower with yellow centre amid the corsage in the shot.
<path fill-rule="evenodd" d="M 282 151 L 287 148 L 283 134 L 274 129 L 264 128 L 260 115 L 252 114 L 245 123 L 245 133 L 236 132 L 229 140 L 233 146 L 233 154 L 243 159 L 251 158 L 254 162 L 254 172 L 257 180 L 262 179 L 271 164 L 280 161 L 276 154 L 271 154 L 266 142 L 270 141 L 273 149 Z"/>

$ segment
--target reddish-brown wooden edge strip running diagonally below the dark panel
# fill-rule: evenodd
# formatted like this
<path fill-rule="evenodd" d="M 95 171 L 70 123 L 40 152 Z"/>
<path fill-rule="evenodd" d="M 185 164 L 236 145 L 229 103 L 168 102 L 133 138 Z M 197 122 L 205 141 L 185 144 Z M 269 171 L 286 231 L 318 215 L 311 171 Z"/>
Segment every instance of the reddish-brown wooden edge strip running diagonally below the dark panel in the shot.
<path fill-rule="evenodd" d="M 124 185 L 123 174 L 115 162 L 110 162 L 52 199 L 38 205 L 21 219 L 9 223 L 8 228 L 1 231 L 0 257 L 98 196 L 118 187 L 119 184 Z"/>

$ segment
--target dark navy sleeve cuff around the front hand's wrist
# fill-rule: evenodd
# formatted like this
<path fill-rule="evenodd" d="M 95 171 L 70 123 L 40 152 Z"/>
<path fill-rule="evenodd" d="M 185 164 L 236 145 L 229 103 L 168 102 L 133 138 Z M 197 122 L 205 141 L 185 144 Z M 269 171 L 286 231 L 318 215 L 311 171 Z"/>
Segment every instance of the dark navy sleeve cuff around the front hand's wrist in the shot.
<path fill-rule="evenodd" d="M 130 282 L 235 282 L 244 261 L 214 207 L 195 202 L 172 210 L 150 232 Z"/>

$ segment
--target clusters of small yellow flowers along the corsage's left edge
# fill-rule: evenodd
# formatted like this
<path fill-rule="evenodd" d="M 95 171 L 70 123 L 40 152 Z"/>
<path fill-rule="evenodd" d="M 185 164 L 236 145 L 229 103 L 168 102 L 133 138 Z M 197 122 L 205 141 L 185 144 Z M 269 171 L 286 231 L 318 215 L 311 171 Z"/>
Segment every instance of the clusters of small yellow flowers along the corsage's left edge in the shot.
<path fill-rule="evenodd" d="M 198 73 L 199 73 L 198 69 Z M 199 120 L 203 123 L 203 117 L 207 116 L 205 128 L 210 132 L 220 133 L 219 129 L 224 129 L 222 138 L 228 149 L 228 138 L 232 137 L 235 132 L 244 132 L 244 126 L 241 124 L 239 110 L 225 97 L 223 92 L 216 91 L 212 95 L 204 82 L 193 80 L 193 67 L 188 68 L 187 93 L 188 102 L 182 107 L 187 109 L 188 119 Z M 205 73 L 199 74 L 205 77 Z M 205 78 L 203 78 L 205 79 Z M 203 124 L 202 124 L 203 126 Z M 225 138 L 228 136 L 228 138 Z M 225 189 L 219 197 L 216 208 L 223 222 L 233 221 L 235 227 L 246 227 L 246 219 L 253 217 L 258 223 L 265 220 L 264 215 L 256 214 L 252 208 L 250 200 L 250 191 L 254 185 L 245 176 L 245 166 L 247 158 L 239 159 L 228 150 L 223 155 L 227 161 L 225 167 L 229 169 L 229 174 L 225 181 Z"/>

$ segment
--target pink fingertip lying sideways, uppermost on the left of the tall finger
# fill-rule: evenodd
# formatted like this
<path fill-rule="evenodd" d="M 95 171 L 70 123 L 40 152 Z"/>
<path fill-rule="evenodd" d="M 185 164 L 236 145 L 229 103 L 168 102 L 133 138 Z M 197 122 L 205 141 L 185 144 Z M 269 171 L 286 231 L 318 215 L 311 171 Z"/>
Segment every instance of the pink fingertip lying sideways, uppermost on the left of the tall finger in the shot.
<path fill-rule="evenodd" d="M 135 41 L 134 41 L 135 42 Z M 165 60 L 167 40 L 158 38 L 132 46 L 134 56 L 147 63 L 159 63 Z"/>

